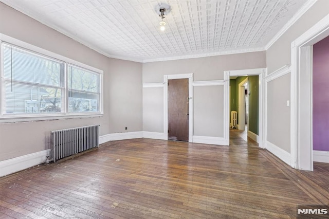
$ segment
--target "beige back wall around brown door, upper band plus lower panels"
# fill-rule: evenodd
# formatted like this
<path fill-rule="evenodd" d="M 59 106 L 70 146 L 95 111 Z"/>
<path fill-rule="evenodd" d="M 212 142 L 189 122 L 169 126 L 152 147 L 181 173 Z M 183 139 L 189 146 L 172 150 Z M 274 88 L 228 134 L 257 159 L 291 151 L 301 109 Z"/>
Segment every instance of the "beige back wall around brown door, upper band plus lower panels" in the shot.
<path fill-rule="evenodd" d="M 213 56 L 206 58 L 182 59 L 143 64 L 143 83 L 163 82 L 164 75 L 193 73 L 194 81 L 223 80 L 225 70 L 240 70 L 266 67 L 266 52 L 248 52 Z M 149 90 L 151 88 L 144 88 Z M 224 90 L 223 86 L 194 87 L 194 128 L 193 135 L 223 137 Z M 148 108 L 154 99 L 154 111 Z M 154 119 L 154 115 L 161 118 Z M 163 92 L 143 94 L 143 131 L 163 132 Z"/>

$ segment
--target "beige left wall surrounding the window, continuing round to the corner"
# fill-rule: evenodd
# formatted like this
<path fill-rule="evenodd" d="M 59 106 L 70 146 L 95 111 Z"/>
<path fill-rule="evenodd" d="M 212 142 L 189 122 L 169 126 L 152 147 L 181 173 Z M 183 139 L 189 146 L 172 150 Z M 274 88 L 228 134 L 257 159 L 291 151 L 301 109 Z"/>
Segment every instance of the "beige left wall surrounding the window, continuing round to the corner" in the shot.
<path fill-rule="evenodd" d="M 0 33 L 104 71 L 104 115 L 0 124 L 0 161 L 49 149 L 51 130 L 101 124 L 100 135 L 142 131 L 142 64 L 107 58 L 0 3 Z"/>

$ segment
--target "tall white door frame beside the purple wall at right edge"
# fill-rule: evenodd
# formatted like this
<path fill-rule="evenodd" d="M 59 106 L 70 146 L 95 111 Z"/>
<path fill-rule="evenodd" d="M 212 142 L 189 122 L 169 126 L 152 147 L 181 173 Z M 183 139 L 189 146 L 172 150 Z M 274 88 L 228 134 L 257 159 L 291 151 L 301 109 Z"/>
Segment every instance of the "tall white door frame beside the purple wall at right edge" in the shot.
<path fill-rule="evenodd" d="M 291 43 L 291 166 L 313 171 L 313 45 L 329 35 L 329 15 Z"/>

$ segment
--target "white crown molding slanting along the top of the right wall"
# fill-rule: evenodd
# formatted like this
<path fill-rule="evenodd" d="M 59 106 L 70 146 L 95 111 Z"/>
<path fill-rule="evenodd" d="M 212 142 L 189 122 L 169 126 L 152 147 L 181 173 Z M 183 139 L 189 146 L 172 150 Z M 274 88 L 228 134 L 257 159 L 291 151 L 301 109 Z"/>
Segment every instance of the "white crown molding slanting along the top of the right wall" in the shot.
<path fill-rule="evenodd" d="M 281 30 L 266 44 L 265 50 L 268 50 L 279 38 L 291 27 L 298 19 L 312 7 L 318 0 L 308 0 L 291 19 L 281 28 Z"/>

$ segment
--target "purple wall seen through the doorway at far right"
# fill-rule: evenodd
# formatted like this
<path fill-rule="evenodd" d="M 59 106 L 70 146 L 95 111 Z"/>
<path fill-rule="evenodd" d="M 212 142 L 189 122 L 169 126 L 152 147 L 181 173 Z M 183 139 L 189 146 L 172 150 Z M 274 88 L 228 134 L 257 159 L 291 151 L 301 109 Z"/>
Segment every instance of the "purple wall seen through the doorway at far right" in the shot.
<path fill-rule="evenodd" d="M 329 36 L 313 46 L 313 150 L 329 151 Z"/>

